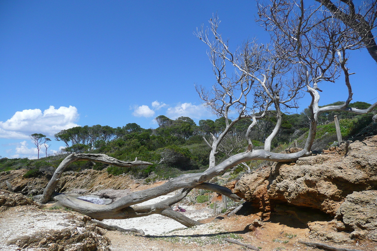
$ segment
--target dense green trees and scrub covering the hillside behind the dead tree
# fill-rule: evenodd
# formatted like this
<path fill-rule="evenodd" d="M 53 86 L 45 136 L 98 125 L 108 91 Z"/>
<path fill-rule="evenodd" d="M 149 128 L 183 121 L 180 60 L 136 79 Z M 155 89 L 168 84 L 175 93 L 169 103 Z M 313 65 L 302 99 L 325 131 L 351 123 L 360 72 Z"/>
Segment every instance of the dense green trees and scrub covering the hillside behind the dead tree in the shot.
<path fill-rule="evenodd" d="M 338 105 L 342 102 L 336 102 Z M 368 103 L 355 102 L 353 107 L 364 109 Z M 336 113 L 340 119 L 343 140 L 352 140 L 360 131 L 371 126 L 372 114 L 357 115 L 346 112 Z M 335 113 L 323 113 L 319 117 L 316 141 L 324 146 L 330 146 L 336 139 L 334 126 Z M 199 125 L 189 117 L 179 117 L 176 120 L 166 116 L 156 117 L 159 125 L 156 129 L 144 129 L 136 123 L 129 123 L 123 127 L 110 126 L 83 126 L 62 130 L 55 134 L 55 138 L 66 145 L 65 154 L 28 160 L 27 158 L 0 158 L 0 172 L 12 169 L 27 168 L 25 177 L 44 175 L 46 170 L 56 168 L 60 162 L 71 152 L 92 152 L 107 154 L 124 161 L 144 160 L 154 163 L 147 167 L 114 167 L 102 163 L 78 161 L 69 166 L 70 170 L 92 168 L 102 170 L 107 168 L 109 173 L 119 175 L 129 173 L 137 178 L 147 178 L 151 173 L 158 177 L 178 176 L 187 172 L 202 172 L 208 167 L 210 149 L 205 144 L 203 137 L 211 142 L 211 134 L 219 135 L 225 128 L 224 118 L 215 121 L 200 120 Z M 254 149 L 263 148 L 265 138 L 275 126 L 276 116 L 270 111 L 268 116 L 258 121 L 251 131 Z M 244 151 L 247 146 L 245 132 L 250 120 L 240 121 L 233 130 L 224 138 L 216 155 L 218 161 Z M 373 125 L 372 125 L 373 126 Z M 374 125 L 376 127 L 376 125 Z M 293 140 L 298 140 L 303 145 L 308 131 L 308 110 L 301 114 L 283 114 L 282 126 L 277 137 L 273 140 L 273 148 L 281 151 L 292 146 Z M 319 149 L 324 148 L 318 146 Z M 247 163 L 251 169 L 261 164 L 261 161 Z M 235 178 L 238 173 L 244 172 L 245 166 L 236 166 L 231 173 Z M 149 179 L 155 179 L 152 176 Z"/>

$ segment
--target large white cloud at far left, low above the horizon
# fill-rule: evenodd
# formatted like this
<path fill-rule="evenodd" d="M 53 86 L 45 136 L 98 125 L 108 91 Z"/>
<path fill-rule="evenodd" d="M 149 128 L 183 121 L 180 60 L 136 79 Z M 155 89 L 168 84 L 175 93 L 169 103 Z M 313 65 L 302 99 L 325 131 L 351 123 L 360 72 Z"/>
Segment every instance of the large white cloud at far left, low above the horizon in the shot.
<path fill-rule="evenodd" d="M 54 135 L 63 129 L 78 126 L 79 114 L 75 106 L 61 106 L 55 109 L 50 106 L 42 111 L 29 109 L 17 111 L 10 119 L 0 122 L 0 138 L 29 138 L 33 133 Z"/>

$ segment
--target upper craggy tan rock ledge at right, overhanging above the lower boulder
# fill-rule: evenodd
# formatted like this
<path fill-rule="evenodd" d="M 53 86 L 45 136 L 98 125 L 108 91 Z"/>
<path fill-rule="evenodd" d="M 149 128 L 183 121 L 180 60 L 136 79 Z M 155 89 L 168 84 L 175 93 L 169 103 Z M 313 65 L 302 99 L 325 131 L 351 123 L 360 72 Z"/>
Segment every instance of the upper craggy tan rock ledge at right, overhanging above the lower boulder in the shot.
<path fill-rule="evenodd" d="M 317 208 L 336 215 L 347 195 L 377 187 L 377 136 L 346 141 L 339 152 L 297 160 L 296 165 L 276 165 L 244 175 L 234 188 L 253 207 L 273 210 L 288 203 Z"/>

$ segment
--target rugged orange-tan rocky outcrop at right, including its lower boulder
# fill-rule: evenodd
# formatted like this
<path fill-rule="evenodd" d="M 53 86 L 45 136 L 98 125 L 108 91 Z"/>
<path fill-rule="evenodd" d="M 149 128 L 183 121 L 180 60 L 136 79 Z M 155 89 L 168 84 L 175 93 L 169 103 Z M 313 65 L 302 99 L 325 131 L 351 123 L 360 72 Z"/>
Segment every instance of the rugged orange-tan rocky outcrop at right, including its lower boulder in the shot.
<path fill-rule="evenodd" d="M 233 192 L 263 211 L 267 218 L 279 204 L 316 208 L 337 216 L 340 221 L 334 223 L 335 227 L 311 224 L 311 228 L 333 228 L 338 232 L 347 229 L 353 231 L 351 238 L 377 240 L 374 189 L 377 189 L 377 136 L 346 141 L 337 151 L 300 158 L 296 163 L 276 163 L 245 174 Z M 343 238 L 338 235 L 323 238 Z"/>

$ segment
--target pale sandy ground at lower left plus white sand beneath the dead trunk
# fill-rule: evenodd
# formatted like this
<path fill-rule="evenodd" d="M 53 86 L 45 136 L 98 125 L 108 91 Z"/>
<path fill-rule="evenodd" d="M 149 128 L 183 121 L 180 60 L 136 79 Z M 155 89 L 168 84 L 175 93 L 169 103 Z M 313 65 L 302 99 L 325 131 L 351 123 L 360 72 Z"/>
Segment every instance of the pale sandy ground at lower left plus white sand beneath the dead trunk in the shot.
<path fill-rule="evenodd" d="M 169 195 L 160 196 L 159 198 L 143 202 L 140 205 L 154 204 L 173 195 L 174 194 L 171 193 Z M 182 214 L 195 220 L 208 218 L 212 211 L 209 208 L 195 210 L 193 206 L 183 206 L 183 208 L 186 209 L 186 211 L 182 212 Z M 13 207 L 0 213 L 0 251 L 18 251 L 18 246 L 8 246 L 6 243 L 20 236 L 33 235 L 38 231 L 61 230 L 67 227 L 76 227 L 75 224 L 69 221 L 69 215 L 69 212 L 62 211 L 41 212 L 33 209 L 24 211 L 24 207 Z M 145 234 L 149 235 L 158 235 L 185 227 L 179 222 L 159 214 L 125 220 L 108 219 L 103 222 L 122 228 L 140 229 L 143 230 Z M 84 228 L 77 228 L 77 230 L 84 231 Z M 110 246 L 110 248 L 112 250 L 118 250 L 115 246 Z M 28 248 L 26 250 L 37 251 L 37 249 L 34 248 Z"/>

